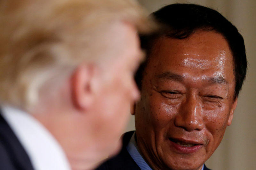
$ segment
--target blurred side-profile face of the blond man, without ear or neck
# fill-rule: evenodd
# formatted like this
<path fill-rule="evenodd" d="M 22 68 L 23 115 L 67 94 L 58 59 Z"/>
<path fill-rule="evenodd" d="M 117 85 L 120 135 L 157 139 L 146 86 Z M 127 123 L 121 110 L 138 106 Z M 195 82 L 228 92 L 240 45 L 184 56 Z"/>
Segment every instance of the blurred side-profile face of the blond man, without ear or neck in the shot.
<path fill-rule="evenodd" d="M 107 53 L 111 56 L 100 70 L 100 90 L 93 106 L 101 154 L 116 153 L 121 147 L 119 138 L 129 120 L 130 105 L 139 98 L 133 75 L 143 57 L 136 29 L 127 23 L 112 27 L 108 43 Z"/>

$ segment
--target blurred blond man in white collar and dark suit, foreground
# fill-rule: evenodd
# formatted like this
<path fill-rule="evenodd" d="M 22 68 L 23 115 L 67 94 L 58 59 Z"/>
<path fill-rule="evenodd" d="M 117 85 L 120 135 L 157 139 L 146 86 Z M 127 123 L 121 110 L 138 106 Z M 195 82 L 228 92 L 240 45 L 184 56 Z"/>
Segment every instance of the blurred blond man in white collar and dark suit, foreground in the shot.
<path fill-rule="evenodd" d="M 0 2 L 1 169 L 92 169 L 118 152 L 139 92 L 132 0 Z"/>

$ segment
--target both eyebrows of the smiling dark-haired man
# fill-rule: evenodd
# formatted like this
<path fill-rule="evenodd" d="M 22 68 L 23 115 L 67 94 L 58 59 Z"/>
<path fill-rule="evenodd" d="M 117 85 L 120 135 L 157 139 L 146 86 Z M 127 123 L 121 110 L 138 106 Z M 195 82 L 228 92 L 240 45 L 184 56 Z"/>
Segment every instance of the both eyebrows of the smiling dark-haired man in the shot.
<path fill-rule="evenodd" d="M 174 80 L 179 82 L 182 82 L 184 80 L 184 76 L 169 71 L 157 75 L 157 78 Z M 207 78 L 206 81 L 211 84 L 228 84 L 228 81 L 223 76 Z"/>

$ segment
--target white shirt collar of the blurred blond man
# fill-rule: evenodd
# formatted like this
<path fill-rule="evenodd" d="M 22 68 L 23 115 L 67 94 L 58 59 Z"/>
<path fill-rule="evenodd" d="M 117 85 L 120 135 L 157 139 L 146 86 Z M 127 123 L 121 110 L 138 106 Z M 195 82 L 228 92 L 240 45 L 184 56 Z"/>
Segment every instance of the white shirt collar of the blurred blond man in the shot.
<path fill-rule="evenodd" d="M 60 144 L 39 121 L 12 107 L 1 110 L 36 170 L 71 170 Z"/>

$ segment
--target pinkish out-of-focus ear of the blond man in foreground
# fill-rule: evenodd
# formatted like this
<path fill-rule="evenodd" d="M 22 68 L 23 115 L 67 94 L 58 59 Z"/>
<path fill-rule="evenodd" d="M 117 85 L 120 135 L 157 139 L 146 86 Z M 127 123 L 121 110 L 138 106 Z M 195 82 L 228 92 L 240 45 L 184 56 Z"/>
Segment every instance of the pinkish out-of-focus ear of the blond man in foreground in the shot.
<path fill-rule="evenodd" d="M 95 65 L 81 64 L 71 78 L 72 102 L 79 110 L 87 110 L 93 101 L 92 80 L 95 76 Z"/>

